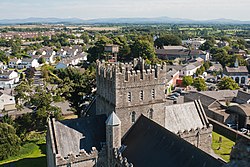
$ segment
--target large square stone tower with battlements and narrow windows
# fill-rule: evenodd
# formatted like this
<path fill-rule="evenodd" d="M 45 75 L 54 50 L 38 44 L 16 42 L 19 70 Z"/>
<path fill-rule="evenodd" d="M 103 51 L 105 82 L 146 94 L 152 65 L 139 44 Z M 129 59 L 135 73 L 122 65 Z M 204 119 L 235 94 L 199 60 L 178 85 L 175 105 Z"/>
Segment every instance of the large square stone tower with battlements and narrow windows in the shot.
<path fill-rule="evenodd" d="M 97 114 L 115 111 L 122 135 L 141 114 L 163 125 L 166 73 L 166 64 L 151 66 L 140 58 L 128 64 L 97 61 Z"/>

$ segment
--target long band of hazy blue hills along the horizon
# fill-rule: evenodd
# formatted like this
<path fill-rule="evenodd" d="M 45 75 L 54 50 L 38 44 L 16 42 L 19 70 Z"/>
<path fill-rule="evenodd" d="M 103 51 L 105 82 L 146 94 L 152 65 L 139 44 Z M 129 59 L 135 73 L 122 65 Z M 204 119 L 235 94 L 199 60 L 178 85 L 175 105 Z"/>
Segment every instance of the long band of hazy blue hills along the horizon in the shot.
<path fill-rule="evenodd" d="M 213 19 L 213 20 L 191 20 L 170 17 L 155 18 L 99 18 L 83 20 L 79 18 L 26 18 L 26 19 L 3 19 L 0 24 L 250 24 L 250 21 L 240 21 L 231 19 Z"/>

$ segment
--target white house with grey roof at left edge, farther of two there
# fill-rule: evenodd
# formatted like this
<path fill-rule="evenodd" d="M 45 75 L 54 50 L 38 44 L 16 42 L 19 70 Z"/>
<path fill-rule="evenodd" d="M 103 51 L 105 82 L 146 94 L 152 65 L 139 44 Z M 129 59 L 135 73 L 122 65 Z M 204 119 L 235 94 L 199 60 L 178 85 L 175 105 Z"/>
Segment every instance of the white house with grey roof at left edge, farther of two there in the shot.
<path fill-rule="evenodd" d="M 11 88 L 15 83 L 19 82 L 19 75 L 15 71 L 0 70 L 0 87 Z"/>

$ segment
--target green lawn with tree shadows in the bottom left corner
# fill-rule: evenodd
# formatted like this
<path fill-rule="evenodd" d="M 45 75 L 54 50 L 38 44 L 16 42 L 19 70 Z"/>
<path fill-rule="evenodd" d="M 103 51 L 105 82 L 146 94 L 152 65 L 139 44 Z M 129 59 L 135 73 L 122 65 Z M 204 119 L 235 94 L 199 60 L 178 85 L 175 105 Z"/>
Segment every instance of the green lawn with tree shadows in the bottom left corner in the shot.
<path fill-rule="evenodd" d="M 30 136 L 32 140 L 28 140 L 21 147 L 18 155 L 0 161 L 0 167 L 46 167 L 45 134 L 36 135 L 34 132 Z M 35 140 L 34 136 L 38 140 Z"/>

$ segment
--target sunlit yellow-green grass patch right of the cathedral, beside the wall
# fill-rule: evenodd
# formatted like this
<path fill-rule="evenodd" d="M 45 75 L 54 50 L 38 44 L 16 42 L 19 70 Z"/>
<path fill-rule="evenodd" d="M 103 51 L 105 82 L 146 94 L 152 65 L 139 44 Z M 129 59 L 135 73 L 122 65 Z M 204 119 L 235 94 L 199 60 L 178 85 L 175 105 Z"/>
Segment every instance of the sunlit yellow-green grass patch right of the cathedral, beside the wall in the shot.
<path fill-rule="evenodd" d="M 229 162 L 230 152 L 235 143 L 218 133 L 213 132 L 212 135 L 212 149 L 214 150 L 214 153 L 219 155 L 226 162 Z M 221 142 L 219 141 L 219 137 L 222 138 Z"/>

